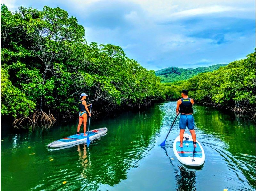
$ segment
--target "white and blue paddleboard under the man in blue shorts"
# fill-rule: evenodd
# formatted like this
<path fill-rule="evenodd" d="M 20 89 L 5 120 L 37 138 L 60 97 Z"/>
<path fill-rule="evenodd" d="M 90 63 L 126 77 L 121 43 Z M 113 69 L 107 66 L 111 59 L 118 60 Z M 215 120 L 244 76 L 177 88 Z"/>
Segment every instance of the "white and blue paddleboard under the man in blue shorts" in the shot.
<path fill-rule="evenodd" d="M 194 155 L 194 161 L 193 158 L 193 140 L 191 135 L 184 134 L 183 138 L 183 147 L 180 147 L 180 136 L 177 136 L 173 143 L 173 152 L 177 159 L 187 166 L 201 166 L 204 164 L 205 161 L 205 154 L 204 149 L 200 142 L 196 139 L 196 148 L 195 148 L 195 155 Z"/>

